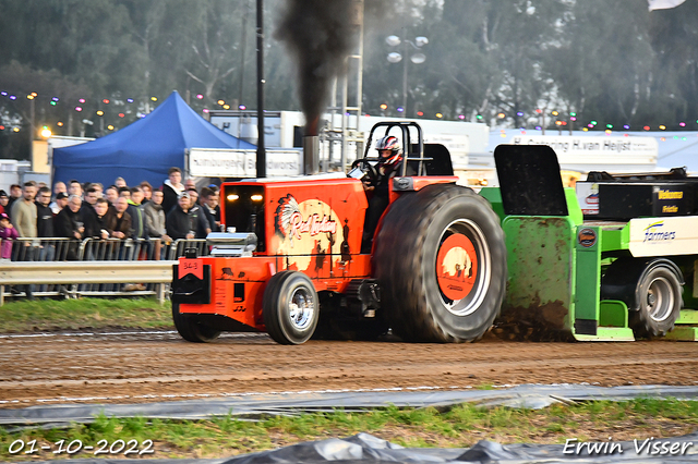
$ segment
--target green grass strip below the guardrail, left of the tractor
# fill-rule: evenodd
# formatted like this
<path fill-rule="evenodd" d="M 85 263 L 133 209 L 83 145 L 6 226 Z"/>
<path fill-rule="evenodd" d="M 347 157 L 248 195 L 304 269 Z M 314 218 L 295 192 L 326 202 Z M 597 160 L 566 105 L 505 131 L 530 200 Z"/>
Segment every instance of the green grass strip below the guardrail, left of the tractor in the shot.
<path fill-rule="evenodd" d="M 0 306 L 0 332 L 172 328 L 171 306 L 155 298 L 16 301 Z"/>

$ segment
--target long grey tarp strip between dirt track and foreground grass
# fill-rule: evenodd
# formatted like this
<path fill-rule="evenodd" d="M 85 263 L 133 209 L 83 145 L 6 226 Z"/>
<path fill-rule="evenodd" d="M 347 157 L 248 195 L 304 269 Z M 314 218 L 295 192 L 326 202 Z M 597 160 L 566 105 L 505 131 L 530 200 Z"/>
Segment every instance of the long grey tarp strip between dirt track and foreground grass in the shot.
<path fill-rule="evenodd" d="M 161 419 L 205 419 L 231 414 L 242 418 L 299 415 L 318 411 L 361 411 L 373 407 L 428 407 L 476 403 L 482 406 L 541 408 L 553 403 L 593 400 L 625 401 L 636 398 L 698 400 L 698 387 L 583 384 L 522 384 L 497 390 L 336 391 L 240 394 L 145 404 L 55 404 L 0 410 L 0 425 L 91 423 L 98 414 L 109 417 L 144 416 Z"/>

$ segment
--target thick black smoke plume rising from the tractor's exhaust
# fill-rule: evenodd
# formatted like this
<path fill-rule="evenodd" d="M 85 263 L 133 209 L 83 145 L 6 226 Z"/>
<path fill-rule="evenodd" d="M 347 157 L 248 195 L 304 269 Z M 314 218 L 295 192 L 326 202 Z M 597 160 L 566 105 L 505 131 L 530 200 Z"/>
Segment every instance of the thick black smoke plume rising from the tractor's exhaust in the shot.
<path fill-rule="evenodd" d="M 305 114 L 305 135 L 317 135 L 317 122 L 327 105 L 335 76 L 357 39 L 351 23 L 352 0 L 288 0 L 276 33 L 298 63 L 299 97 Z"/>

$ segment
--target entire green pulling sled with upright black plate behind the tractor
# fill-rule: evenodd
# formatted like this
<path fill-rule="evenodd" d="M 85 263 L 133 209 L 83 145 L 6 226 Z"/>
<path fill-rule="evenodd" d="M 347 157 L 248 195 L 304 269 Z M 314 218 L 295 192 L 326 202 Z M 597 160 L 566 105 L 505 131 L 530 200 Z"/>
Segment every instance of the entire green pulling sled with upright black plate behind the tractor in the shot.
<path fill-rule="evenodd" d="M 508 253 L 497 325 L 522 337 L 698 340 L 698 178 L 592 172 L 564 188 L 549 146 L 500 145 L 485 187 Z"/>

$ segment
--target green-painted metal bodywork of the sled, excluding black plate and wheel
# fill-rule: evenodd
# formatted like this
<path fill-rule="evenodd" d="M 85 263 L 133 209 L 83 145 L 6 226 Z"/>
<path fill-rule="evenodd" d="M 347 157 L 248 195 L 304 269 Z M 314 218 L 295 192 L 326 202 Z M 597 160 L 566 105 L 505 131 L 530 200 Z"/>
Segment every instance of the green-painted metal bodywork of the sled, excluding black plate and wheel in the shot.
<path fill-rule="evenodd" d="M 601 301 L 607 252 L 627 251 L 629 225 L 583 223 L 575 191 L 565 188 L 567 216 L 506 216 L 496 187 L 480 192 L 502 220 L 508 251 L 503 317 L 571 333 L 580 341 L 633 341 L 624 302 Z M 585 239 L 579 233 L 585 231 Z M 589 240 L 594 237 L 595 240 Z M 670 340 L 698 341 L 698 310 L 682 310 Z"/>

